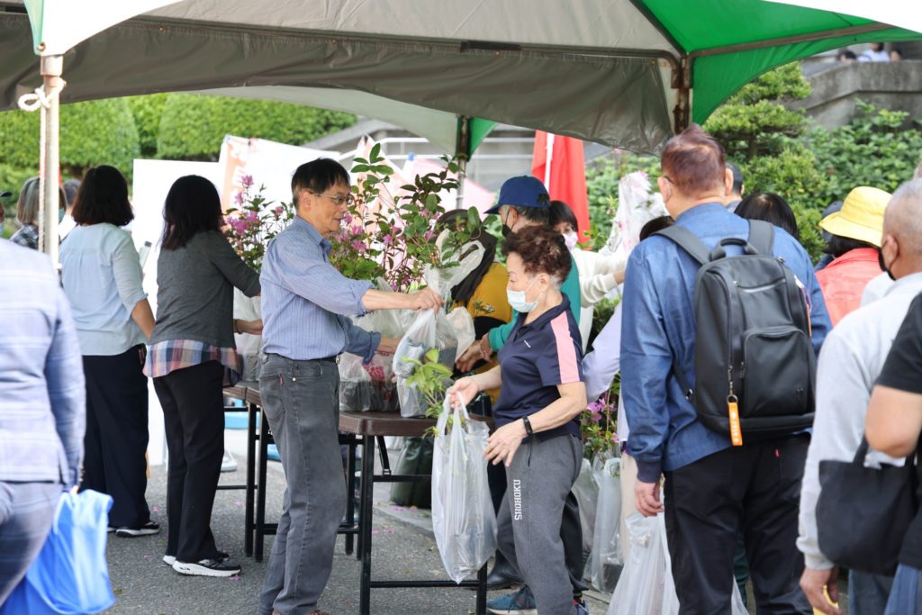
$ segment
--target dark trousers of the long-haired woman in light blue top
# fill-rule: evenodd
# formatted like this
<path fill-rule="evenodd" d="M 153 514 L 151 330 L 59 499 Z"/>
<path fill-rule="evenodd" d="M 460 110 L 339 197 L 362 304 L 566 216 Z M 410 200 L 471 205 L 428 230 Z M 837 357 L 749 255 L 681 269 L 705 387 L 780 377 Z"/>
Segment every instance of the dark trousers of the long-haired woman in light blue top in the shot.
<path fill-rule="evenodd" d="M 112 356 L 85 355 L 87 432 L 80 489 L 112 496 L 109 525 L 140 527 L 150 520 L 148 489 L 148 377 L 144 346 Z"/>

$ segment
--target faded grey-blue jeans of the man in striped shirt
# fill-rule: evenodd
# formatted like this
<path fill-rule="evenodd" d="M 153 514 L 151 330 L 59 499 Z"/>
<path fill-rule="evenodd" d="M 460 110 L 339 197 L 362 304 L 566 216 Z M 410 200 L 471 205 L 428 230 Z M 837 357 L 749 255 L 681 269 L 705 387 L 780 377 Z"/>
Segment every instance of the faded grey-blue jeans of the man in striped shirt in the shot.
<path fill-rule="evenodd" d="M 288 489 L 259 599 L 261 615 L 273 609 L 281 615 L 310 613 L 333 568 L 346 512 L 338 388 L 334 361 L 270 354 L 263 362 L 259 393 Z"/>

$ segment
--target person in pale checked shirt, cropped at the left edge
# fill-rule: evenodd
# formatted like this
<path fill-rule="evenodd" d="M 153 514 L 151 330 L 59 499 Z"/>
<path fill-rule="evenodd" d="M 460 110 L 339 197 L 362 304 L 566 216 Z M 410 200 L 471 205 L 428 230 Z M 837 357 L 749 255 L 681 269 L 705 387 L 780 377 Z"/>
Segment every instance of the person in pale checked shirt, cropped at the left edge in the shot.
<path fill-rule="evenodd" d="M 0 604 L 77 486 L 87 390 L 70 305 L 45 254 L 0 240 Z"/>

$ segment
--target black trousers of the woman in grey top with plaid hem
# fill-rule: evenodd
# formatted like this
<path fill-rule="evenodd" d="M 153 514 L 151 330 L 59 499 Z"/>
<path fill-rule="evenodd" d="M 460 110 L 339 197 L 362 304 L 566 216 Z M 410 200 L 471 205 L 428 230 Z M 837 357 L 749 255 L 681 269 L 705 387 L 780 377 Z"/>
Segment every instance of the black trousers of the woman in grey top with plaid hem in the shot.
<path fill-rule="evenodd" d="M 214 559 L 211 509 L 224 455 L 224 366 L 208 361 L 154 378 L 163 408 L 167 472 L 167 555 L 180 562 Z"/>

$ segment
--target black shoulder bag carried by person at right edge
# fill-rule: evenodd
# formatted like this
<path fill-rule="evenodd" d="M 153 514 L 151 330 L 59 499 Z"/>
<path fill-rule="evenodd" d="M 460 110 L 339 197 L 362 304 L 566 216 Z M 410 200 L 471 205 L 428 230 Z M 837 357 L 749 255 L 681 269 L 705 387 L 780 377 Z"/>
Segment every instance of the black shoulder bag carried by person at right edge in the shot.
<path fill-rule="evenodd" d="M 852 461 L 820 462 L 816 525 L 827 559 L 861 573 L 896 573 L 918 510 L 916 453 L 902 467 L 865 467 L 868 441 L 862 438 Z"/>

